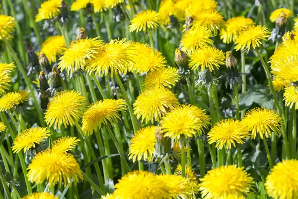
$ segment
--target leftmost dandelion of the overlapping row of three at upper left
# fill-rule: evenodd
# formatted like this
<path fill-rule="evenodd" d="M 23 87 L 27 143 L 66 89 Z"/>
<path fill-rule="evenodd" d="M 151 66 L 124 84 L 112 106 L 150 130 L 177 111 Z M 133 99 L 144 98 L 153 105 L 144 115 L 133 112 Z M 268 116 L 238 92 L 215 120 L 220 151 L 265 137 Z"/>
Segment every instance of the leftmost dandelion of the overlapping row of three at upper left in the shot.
<path fill-rule="evenodd" d="M 67 72 L 84 70 L 86 60 L 94 58 L 98 49 L 102 46 L 102 41 L 98 37 L 92 39 L 78 39 L 71 43 L 63 56 L 59 58 L 58 69 Z"/>

